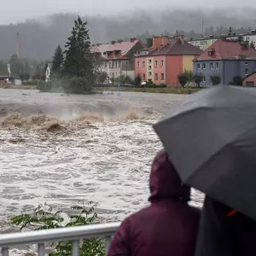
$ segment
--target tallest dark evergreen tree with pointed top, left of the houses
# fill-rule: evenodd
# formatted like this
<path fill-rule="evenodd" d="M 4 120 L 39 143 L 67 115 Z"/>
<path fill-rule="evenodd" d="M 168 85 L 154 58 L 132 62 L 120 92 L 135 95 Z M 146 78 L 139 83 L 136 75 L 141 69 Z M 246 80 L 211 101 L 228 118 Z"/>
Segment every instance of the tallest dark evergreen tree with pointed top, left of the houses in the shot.
<path fill-rule="evenodd" d="M 65 47 L 66 59 L 63 74 L 67 77 L 90 78 L 93 74 L 93 58 L 90 53 L 90 36 L 86 28 L 87 22 L 78 17 L 74 21 L 71 36 L 67 38 Z"/>

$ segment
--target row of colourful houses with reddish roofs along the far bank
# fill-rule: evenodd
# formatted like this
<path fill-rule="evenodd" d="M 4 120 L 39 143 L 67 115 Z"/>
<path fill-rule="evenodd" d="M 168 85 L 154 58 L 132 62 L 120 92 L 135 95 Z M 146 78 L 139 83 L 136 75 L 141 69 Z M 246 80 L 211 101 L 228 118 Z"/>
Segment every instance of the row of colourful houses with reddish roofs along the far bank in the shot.
<path fill-rule="evenodd" d="M 202 85 L 212 84 L 212 77 L 218 75 L 221 84 L 229 84 L 235 76 L 244 79 L 246 85 L 256 85 L 253 78 L 256 71 L 256 51 L 250 45 L 255 36 L 244 39 L 230 33 L 221 38 L 211 38 L 207 49 L 187 41 L 183 35 L 154 37 L 151 47 L 146 47 L 137 38 L 129 41 L 112 41 L 110 44 L 93 44 L 92 53 L 102 62 L 102 72 L 116 79 L 120 75 L 154 84 L 178 84 L 177 76 L 184 70 L 201 74 Z M 49 79 L 49 65 L 45 68 Z"/>

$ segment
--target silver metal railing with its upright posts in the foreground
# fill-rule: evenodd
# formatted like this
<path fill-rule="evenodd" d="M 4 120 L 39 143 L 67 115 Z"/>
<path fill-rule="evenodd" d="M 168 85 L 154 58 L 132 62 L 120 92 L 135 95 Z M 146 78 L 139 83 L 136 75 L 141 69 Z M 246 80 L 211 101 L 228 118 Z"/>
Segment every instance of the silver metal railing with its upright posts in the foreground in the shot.
<path fill-rule="evenodd" d="M 2 255 L 9 256 L 9 247 L 24 244 L 38 244 L 38 256 L 45 255 L 45 242 L 72 241 L 72 255 L 79 256 L 79 240 L 95 236 L 105 237 L 106 254 L 111 237 L 119 228 L 120 223 L 90 224 L 71 228 L 53 230 L 36 230 L 0 235 Z"/>

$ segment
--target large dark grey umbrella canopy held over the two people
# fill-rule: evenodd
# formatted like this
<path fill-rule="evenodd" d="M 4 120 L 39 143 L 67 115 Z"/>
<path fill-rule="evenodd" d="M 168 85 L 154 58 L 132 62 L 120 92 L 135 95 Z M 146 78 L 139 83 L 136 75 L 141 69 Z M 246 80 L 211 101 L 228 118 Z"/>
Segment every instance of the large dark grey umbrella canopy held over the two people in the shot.
<path fill-rule="evenodd" d="M 214 86 L 154 125 L 184 183 L 256 219 L 256 93 Z"/>

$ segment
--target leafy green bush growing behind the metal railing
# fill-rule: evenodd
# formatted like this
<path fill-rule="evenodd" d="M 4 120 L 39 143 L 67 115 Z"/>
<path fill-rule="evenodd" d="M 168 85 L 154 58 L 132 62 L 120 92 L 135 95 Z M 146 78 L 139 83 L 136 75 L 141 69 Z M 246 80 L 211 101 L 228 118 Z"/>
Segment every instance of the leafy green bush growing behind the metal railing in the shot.
<path fill-rule="evenodd" d="M 37 230 L 59 229 L 63 227 L 81 226 L 96 224 L 97 213 L 96 204 L 90 202 L 90 207 L 75 206 L 71 207 L 72 213 L 55 211 L 46 203 L 40 204 L 32 213 L 21 214 L 11 218 L 11 224 L 18 225 L 20 230 L 25 227 L 30 228 L 32 224 L 38 224 Z M 70 211 L 69 211 L 70 212 Z M 64 221 L 65 219 L 65 221 Z M 51 256 L 70 256 L 72 255 L 72 241 L 59 241 L 52 243 L 51 248 L 54 253 Z M 105 241 L 103 237 L 92 237 L 80 243 L 81 256 L 103 256 L 105 255 Z"/>

